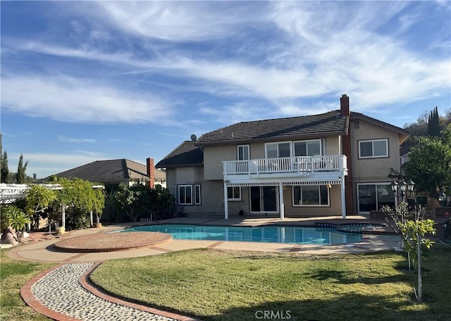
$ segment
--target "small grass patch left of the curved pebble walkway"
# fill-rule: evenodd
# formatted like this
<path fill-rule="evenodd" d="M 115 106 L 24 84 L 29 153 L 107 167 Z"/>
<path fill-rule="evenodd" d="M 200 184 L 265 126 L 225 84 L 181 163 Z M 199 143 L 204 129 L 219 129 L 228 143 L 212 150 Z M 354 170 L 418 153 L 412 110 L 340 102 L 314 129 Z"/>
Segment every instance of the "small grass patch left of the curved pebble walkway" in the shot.
<path fill-rule="evenodd" d="M 55 264 L 11 260 L 6 253 L 7 249 L 0 250 L 0 320 L 51 320 L 25 304 L 20 296 L 20 288 Z"/>

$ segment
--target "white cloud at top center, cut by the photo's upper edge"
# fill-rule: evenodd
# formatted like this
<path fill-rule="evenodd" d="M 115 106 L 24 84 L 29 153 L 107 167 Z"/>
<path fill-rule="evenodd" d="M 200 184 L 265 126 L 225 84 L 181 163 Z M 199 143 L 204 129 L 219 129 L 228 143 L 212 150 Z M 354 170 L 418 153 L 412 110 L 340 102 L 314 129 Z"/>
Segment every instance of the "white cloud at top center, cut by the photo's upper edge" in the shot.
<path fill-rule="evenodd" d="M 175 42 L 222 39 L 259 19 L 260 6 L 222 1 L 100 1 L 106 22 L 140 37 Z M 105 18 L 101 16 L 100 18 Z"/>

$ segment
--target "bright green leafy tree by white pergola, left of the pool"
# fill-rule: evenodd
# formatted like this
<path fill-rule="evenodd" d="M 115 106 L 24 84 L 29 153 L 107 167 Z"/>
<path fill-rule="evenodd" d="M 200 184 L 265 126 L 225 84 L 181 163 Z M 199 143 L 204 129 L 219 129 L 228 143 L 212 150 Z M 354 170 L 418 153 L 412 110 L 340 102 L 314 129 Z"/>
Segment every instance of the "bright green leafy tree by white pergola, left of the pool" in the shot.
<path fill-rule="evenodd" d="M 52 208 L 66 206 L 66 228 L 82 229 L 89 226 L 88 214 L 101 214 L 104 209 L 105 195 L 103 190 L 93 188 L 93 184 L 80 178 L 57 178 L 55 183 L 61 185 Z"/>

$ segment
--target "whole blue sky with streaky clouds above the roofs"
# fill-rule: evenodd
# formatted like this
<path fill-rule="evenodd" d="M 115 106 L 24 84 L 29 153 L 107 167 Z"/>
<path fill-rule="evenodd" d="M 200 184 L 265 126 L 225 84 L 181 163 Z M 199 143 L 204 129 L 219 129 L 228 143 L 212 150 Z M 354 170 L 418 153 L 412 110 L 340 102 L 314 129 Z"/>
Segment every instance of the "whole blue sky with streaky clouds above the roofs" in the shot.
<path fill-rule="evenodd" d="M 158 162 L 190 135 L 339 109 L 450 109 L 450 1 L 1 1 L 9 169 Z"/>

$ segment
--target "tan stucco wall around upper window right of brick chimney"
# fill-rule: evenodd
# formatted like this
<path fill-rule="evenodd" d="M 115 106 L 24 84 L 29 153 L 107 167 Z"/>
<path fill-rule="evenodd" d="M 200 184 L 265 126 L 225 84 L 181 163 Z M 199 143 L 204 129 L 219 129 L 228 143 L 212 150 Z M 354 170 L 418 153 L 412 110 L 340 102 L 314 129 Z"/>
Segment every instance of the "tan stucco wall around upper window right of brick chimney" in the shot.
<path fill-rule="evenodd" d="M 399 135 L 380 126 L 359 121 L 359 128 L 351 122 L 352 141 L 352 176 L 354 183 L 390 181 L 388 171 L 390 167 L 400 170 Z M 359 159 L 359 140 L 388 138 L 388 157 Z"/>

